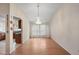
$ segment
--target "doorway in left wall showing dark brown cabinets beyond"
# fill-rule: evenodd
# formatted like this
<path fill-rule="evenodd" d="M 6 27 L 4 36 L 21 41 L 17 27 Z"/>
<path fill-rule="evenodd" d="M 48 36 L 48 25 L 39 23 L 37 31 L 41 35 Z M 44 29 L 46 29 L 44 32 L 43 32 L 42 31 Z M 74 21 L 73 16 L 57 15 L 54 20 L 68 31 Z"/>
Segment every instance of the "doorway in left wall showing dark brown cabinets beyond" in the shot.
<path fill-rule="evenodd" d="M 13 16 L 13 41 L 15 44 L 22 43 L 22 20 Z"/>

